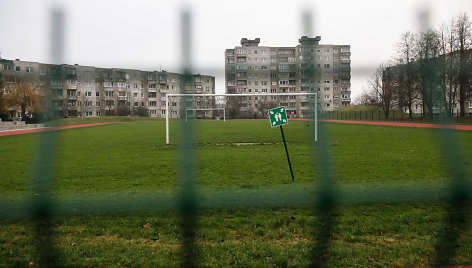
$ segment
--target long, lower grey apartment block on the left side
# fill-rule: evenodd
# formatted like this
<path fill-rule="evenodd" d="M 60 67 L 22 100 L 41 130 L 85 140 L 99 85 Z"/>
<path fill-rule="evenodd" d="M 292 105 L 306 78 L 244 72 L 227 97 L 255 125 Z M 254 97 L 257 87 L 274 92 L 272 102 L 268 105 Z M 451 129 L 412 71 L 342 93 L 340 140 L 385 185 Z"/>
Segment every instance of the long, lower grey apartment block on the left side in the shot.
<path fill-rule="evenodd" d="M 82 65 L 52 65 L 0 59 L 5 90 L 15 82 L 36 84 L 50 92 L 50 105 L 57 116 L 105 116 L 148 114 L 165 117 L 167 93 L 182 93 L 184 75 L 166 71 L 98 68 Z M 191 75 L 186 93 L 215 93 L 215 77 Z M 47 89 L 47 90 L 46 90 Z M 181 90 L 182 89 L 182 90 Z M 173 103 L 171 117 L 180 117 L 179 102 Z M 21 117 L 10 108 L 11 118 Z"/>

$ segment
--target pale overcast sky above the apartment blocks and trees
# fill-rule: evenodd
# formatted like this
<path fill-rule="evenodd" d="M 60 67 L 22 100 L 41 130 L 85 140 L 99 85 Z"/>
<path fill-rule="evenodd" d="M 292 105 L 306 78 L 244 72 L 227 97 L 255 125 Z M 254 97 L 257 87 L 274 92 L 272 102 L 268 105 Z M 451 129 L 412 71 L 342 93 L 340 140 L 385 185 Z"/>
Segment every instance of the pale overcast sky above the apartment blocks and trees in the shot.
<path fill-rule="evenodd" d="M 402 33 L 419 31 L 420 11 L 429 11 L 432 26 L 460 12 L 472 15 L 471 0 L 0 0 L 2 58 L 51 62 L 53 5 L 65 14 L 64 63 L 174 72 L 181 71 L 180 14 L 187 7 L 194 72 L 216 76 L 218 93 L 224 92 L 226 48 L 243 37 L 296 46 L 306 12 L 321 43 L 351 45 L 353 96 L 393 57 Z"/>

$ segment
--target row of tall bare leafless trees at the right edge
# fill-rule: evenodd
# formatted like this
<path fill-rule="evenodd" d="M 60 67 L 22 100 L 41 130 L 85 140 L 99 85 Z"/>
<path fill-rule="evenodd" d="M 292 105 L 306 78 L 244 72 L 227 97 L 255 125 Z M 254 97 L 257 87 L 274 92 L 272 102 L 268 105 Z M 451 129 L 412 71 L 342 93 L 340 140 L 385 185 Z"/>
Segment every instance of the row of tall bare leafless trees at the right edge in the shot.
<path fill-rule="evenodd" d="M 471 96 L 471 48 L 467 13 L 439 29 L 405 32 L 393 59 L 377 67 L 357 103 L 381 107 L 385 119 L 392 109 L 408 111 L 410 120 L 415 109 L 431 120 L 438 113 L 452 117 L 458 109 L 465 116 Z"/>

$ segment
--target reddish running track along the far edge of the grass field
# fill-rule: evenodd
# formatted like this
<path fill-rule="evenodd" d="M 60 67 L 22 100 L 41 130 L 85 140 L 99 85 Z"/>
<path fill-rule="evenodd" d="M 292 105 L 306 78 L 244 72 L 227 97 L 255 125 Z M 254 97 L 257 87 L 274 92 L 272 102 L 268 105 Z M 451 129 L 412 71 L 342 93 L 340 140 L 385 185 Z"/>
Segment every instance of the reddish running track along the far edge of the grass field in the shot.
<path fill-rule="evenodd" d="M 249 120 L 267 120 L 267 119 L 249 119 Z M 300 121 L 312 121 L 310 119 L 290 119 Z M 422 127 L 422 128 L 441 128 L 441 129 L 456 129 L 456 130 L 472 130 L 472 125 L 440 125 L 440 124 L 423 124 L 423 123 L 400 123 L 400 122 L 372 122 L 372 121 L 354 121 L 354 120 L 320 120 L 321 122 L 331 123 L 344 123 L 344 124 L 358 124 L 358 125 L 374 125 L 374 126 L 396 126 L 396 127 Z M 148 122 L 148 121 L 143 121 Z M 138 123 L 138 122 L 109 122 L 109 123 L 95 123 L 95 124 L 82 124 L 62 127 L 46 127 L 46 128 L 32 128 L 32 129 L 19 129 L 19 130 L 6 130 L 0 131 L 1 136 L 20 135 L 37 133 L 43 131 L 72 129 L 81 127 L 92 127 L 110 124 L 121 124 L 121 123 Z"/>

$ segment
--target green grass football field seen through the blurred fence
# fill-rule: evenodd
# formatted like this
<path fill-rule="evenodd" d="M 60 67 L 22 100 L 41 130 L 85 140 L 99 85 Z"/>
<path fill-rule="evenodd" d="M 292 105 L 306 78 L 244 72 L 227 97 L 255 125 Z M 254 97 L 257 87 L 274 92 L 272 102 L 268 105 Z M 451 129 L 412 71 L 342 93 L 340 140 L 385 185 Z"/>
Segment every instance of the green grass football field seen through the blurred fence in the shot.
<path fill-rule="evenodd" d="M 122 121 L 111 121 L 117 120 Z M 92 122 L 58 122 L 75 123 Z M 311 263 L 319 214 L 306 200 L 316 198 L 319 178 L 313 152 L 320 144 L 329 148 L 333 178 L 345 191 L 362 186 L 408 192 L 427 186 L 423 195 L 413 194 L 411 202 L 396 200 L 396 194 L 401 193 L 395 192 L 389 192 L 393 197 L 380 203 L 358 203 L 356 195 L 339 196 L 344 201 L 333 212 L 336 224 L 330 234 L 329 255 L 324 256 L 326 264 L 434 265 L 437 236 L 449 211 L 445 202 L 437 201 L 441 197 L 438 189 L 446 189 L 451 172 L 437 130 L 322 126 L 330 136 L 318 144 L 312 142 L 312 123 L 291 121 L 284 127 L 295 175 L 292 182 L 278 128 L 270 128 L 265 120 L 198 121 L 195 183 L 199 196 L 206 198 L 202 206 L 212 208 L 199 211 L 195 238 L 200 266 Z M 173 121 L 172 145 L 165 145 L 162 121 L 59 132 L 53 200 L 70 204 L 58 208 L 61 215 L 51 223 L 59 264 L 165 267 L 181 263 L 179 216 L 165 209 L 173 208 L 169 203 L 179 196 L 179 132 L 179 123 Z M 471 174 L 472 133 L 451 133 L 457 135 L 466 152 L 456 164 Z M 34 194 L 31 167 L 38 136 L 0 137 L 0 201 Z M 146 197 L 156 196 L 163 196 L 166 202 L 146 203 Z M 287 196 L 293 200 L 284 203 Z M 362 200 L 366 196 L 357 197 Z M 384 196 L 375 197 L 382 200 Z M 89 201 L 92 209 L 70 203 L 74 198 Z M 111 203 L 100 204 L 100 198 Z M 118 205 L 113 206 L 113 200 Z M 15 211 L 15 202 L 0 204 L 0 216 L 4 215 L 0 218 L 0 266 L 38 264 L 31 220 L 22 215 L 5 216 Z M 467 228 L 459 232 L 452 264 L 472 264 L 470 217 L 467 220 Z"/>

